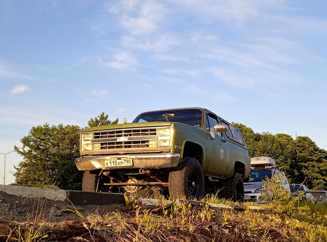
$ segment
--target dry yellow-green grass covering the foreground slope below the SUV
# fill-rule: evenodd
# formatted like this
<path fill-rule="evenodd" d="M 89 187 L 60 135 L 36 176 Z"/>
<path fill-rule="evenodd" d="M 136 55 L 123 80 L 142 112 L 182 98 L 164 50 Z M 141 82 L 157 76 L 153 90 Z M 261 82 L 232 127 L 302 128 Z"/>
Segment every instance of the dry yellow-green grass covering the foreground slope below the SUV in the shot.
<path fill-rule="evenodd" d="M 162 199 L 155 209 L 149 211 L 142 209 L 135 196 L 129 196 L 124 210 L 105 215 L 90 214 L 75 222 L 50 224 L 39 217 L 38 221 L 11 223 L 7 230 L 10 233 L 2 237 L 6 234 L 1 234 L 4 225 L 0 223 L 0 241 L 327 241 L 326 213 L 315 213 L 319 206 L 314 204 L 275 202 L 260 205 L 262 210 L 235 212 L 214 210 L 209 203 L 230 206 L 240 205 L 238 203 L 217 197 L 202 201 L 202 205 L 193 207 L 187 202 L 169 204 Z M 323 211 L 321 207 L 320 210 Z"/>

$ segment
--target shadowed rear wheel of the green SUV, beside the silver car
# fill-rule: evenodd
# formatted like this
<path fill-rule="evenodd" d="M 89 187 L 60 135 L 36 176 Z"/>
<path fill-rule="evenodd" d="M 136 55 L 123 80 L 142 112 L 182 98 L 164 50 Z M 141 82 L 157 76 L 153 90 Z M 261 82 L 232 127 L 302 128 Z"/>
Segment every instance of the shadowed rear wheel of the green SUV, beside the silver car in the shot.
<path fill-rule="evenodd" d="M 221 195 L 224 199 L 244 202 L 244 185 L 239 173 L 234 172 L 231 178 L 224 181 Z"/>

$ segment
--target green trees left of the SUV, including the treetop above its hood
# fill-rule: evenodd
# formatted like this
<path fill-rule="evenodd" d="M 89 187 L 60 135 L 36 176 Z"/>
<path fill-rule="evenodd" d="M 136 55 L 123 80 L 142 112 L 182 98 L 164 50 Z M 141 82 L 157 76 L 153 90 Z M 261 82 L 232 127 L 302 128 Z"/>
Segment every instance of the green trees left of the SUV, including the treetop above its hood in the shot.
<path fill-rule="evenodd" d="M 88 121 L 90 127 L 117 124 L 102 112 Z M 49 124 L 32 127 L 20 141 L 23 157 L 13 174 L 17 184 L 58 185 L 62 189 L 81 190 L 83 172 L 78 171 L 74 159 L 79 157 L 80 127 Z M 17 147 L 14 146 L 16 149 Z"/>

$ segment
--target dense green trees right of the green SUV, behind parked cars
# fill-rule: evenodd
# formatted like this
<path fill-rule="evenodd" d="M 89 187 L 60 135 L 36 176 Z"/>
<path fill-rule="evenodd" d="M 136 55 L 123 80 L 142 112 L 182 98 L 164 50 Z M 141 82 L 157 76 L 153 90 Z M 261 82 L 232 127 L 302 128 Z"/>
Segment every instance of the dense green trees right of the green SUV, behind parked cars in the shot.
<path fill-rule="evenodd" d="M 269 156 L 276 161 L 290 183 L 312 189 L 327 189 L 327 151 L 309 137 L 293 139 L 288 134 L 254 133 L 243 124 L 233 123 L 242 133 L 250 157 Z"/>

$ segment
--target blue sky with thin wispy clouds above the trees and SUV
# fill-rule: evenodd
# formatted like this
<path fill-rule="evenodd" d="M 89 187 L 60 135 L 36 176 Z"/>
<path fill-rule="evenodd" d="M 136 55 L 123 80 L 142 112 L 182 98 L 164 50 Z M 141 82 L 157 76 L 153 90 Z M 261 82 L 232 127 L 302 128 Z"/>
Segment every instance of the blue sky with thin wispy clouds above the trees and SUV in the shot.
<path fill-rule="evenodd" d="M 0 1 L 0 152 L 46 122 L 181 107 L 326 149 L 326 12 L 323 0 Z M 6 184 L 20 160 L 7 155 Z"/>

